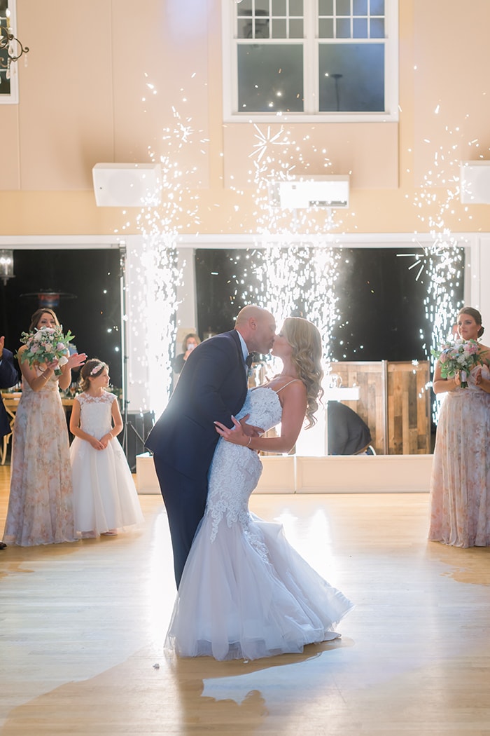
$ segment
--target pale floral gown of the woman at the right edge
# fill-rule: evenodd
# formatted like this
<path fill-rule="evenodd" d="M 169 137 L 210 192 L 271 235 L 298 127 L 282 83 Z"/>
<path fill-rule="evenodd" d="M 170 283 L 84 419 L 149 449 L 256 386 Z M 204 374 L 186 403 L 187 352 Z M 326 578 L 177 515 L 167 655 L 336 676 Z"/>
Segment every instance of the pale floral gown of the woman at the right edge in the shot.
<path fill-rule="evenodd" d="M 476 370 L 444 395 L 433 456 L 429 539 L 455 547 L 490 545 L 490 394 Z"/>

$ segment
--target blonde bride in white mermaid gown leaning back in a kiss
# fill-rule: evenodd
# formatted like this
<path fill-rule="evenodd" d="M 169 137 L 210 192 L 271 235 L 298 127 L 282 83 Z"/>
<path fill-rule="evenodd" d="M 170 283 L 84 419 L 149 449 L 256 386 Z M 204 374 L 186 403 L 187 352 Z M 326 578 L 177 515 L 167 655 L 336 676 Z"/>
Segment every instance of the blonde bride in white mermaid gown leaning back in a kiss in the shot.
<path fill-rule="evenodd" d="M 181 657 L 258 659 L 336 639 L 334 626 L 353 604 L 289 545 L 282 527 L 248 511 L 262 473 L 257 450 L 287 453 L 305 420 L 314 425 L 322 391 L 321 340 L 306 319 L 290 317 L 272 354 L 283 370 L 251 389 L 240 417 L 277 437 L 249 437 L 234 417 L 209 471 L 206 512 L 184 567 L 166 648 Z"/>

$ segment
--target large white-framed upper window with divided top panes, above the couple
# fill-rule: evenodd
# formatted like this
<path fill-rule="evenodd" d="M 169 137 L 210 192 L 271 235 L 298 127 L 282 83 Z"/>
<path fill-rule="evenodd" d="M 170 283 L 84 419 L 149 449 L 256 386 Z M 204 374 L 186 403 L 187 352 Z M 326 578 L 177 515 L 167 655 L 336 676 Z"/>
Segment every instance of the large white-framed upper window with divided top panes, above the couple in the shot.
<path fill-rule="evenodd" d="M 224 117 L 397 120 L 397 0 L 223 0 Z"/>

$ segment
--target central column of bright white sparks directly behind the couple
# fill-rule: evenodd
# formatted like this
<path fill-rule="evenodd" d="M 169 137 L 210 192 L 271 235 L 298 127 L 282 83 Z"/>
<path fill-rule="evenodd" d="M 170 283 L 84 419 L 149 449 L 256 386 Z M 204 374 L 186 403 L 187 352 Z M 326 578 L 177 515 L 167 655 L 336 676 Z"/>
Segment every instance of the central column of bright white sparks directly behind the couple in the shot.
<path fill-rule="evenodd" d="M 249 155 L 255 158 L 253 185 L 257 192 L 256 249 L 252 260 L 260 288 L 256 287 L 251 294 L 248 289 L 238 287 L 234 298 L 238 303 L 253 301 L 269 309 L 278 325 L 287 316 L 310 319 L 320 329 L 327 360 L 331 351 L 331 329 L 338 319 L 334 283 L 340 252 L 334 244 L 325 242 L 326 234 L 335 227 L 334 220 L 330 210 L 311 208 L 314 213 L 325 213 L 323 222 L 318 224 L 311 219 L 311 210 L 291 212 L 272 205 L 270 183 L 291 178 L 293 169 L 287 147 L 295 144 L 282 126 L 274 133 L 270 126 L 264 131 L 258 125 L 254 127 L 257 142 Z M 295 150 L 295 160 L 301 162 L 300 150 Z M 326 155 L 325 161 L 330 165 Z M 324 238 L 323 243 L 321 238 Z"/>

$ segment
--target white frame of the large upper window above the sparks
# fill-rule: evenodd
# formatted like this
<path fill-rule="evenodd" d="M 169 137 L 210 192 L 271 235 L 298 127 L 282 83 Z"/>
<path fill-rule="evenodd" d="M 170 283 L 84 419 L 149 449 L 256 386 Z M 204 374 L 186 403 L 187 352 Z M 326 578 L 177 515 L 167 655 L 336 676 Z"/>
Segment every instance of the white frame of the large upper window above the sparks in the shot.
<path fill-rule="evenodd" d="M 322 39 L 317 37 L 316 18 L 318 0 L 303 0 L 305 24 L 303 38 L 303 91 L 305 109 L 303 113 L 242 113 L 238 111 L 237 37 L 235 34 L 236 0 L 221 0 L 222 48 L 223 48 L 223 122 L 298 122 L 298 123 L 350 123 L 350 122 L 396 122 L 398 121 L 398 2 L 385 0 L 385 91 L 386 110 L 376 113 L 323 113 L 314 110 L 318 99 L 318 48 Z M 312 10 L 308 12 L 307 10 Z M 277 39 L 284 43 L 286 39 Z M 292 39 L 298 43 L 301 39 Z M 342 43 L 342 40 L 337 43 Z M 272 40 L 274 43 L 274 40 Z M 310 70 L 309 73 L 307 70 Z"/>

